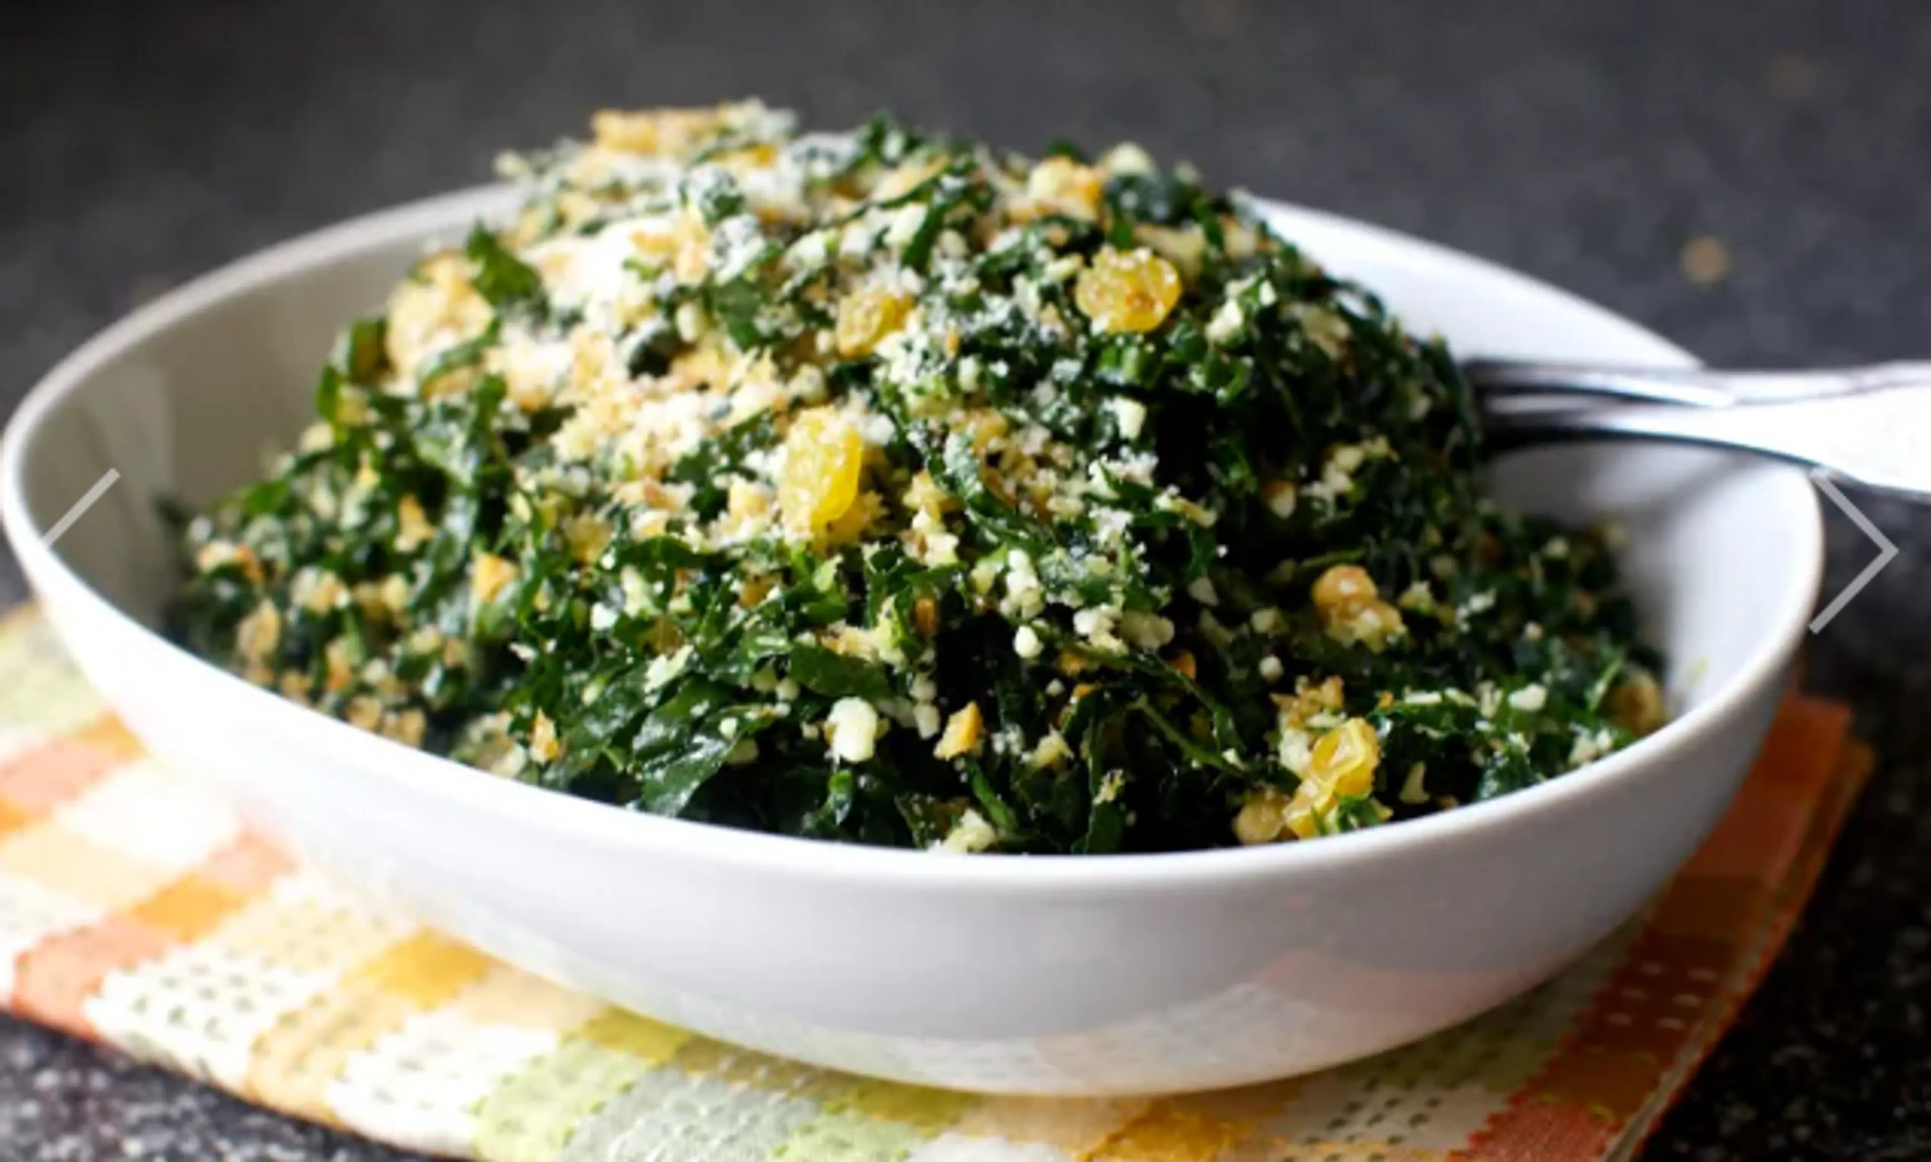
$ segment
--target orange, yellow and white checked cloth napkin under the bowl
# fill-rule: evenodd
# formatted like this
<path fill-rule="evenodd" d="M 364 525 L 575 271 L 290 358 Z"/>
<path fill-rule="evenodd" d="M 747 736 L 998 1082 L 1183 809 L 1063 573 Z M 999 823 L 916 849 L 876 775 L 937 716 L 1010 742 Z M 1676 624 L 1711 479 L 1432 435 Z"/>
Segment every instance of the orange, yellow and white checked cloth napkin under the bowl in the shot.
<path fill-rule="evenodd" d="M 0 1004 L 261 1106 L 490 1162 L 1626 1158 L 1730 1025 L 1869 770 L 1792 697 L 1703 849 L 1558 979 L 1319 1073 L 1153 1100 L 987 1098 L 794 1065 L 369 911 L 0 622 Z"/>

